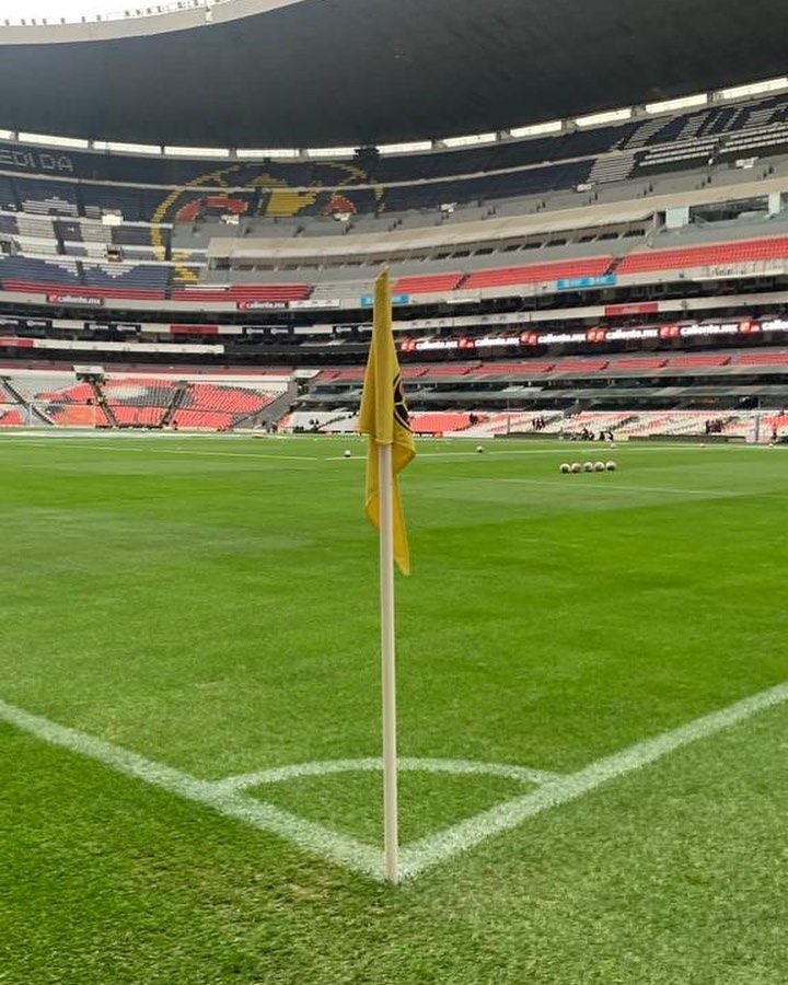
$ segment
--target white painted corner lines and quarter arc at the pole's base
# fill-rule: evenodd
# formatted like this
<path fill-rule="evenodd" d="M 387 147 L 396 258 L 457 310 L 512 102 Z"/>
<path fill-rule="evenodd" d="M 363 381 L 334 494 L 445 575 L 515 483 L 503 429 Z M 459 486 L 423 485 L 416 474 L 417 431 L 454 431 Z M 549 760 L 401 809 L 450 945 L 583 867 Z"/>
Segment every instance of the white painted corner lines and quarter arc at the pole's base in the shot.
<path fill-rule="evenodd" d="M 402 765 L 405 769 L 493 774 L 540 785 L 532 792 L 508 800 L 498 807 L 453 824 L 451 827 L 403 846 L 401 851 L 403 878 L 413 879 L 494 835 L 519 826 L 529 818 L 576 800 L 610 780 L 648 766 L 675 750 L 735 726 L 758 711 L 774 708 L 787 700 L 788 683 L 778 684 L 670 732 L 663 732 L 652 739 L 630 745 L 566 776 L 528 767 L 473 763 L 463 760 L 403 760 Z M 243 821 L 262 831 L 271 832 L 313 855 L 345 866 L 352 871 L 375 880 L 384 878 L 383 854 L 380 849 L 347 835 L 338 834 L 322 824 L 308 821 L 274 804 L 256 800 L 244 792 L 253 786 L 263 786 L 297 777 L 380 769 L 381 762 L 379 760 L 306 763 L 274 767 L 258 773 L 210 781 L 197 779 L 171 766 L 147 760 L 120 746 L 104 742 L 102 739 L 57 725 L 2 700 L 0 700 L 0 721 L 15 726 L 53 745 L 61 746 L 111 766 L 126 776 L 143 780 L 186 800 L 205 804 L 228 818 Z"/>

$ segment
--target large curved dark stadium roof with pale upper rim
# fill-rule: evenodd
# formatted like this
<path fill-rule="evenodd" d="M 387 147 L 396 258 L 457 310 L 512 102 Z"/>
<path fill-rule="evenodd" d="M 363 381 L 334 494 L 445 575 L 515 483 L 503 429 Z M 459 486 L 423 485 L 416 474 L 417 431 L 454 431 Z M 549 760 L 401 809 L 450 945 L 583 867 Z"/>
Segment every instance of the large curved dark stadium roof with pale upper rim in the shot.
<path fill-rule="evenodd" d="M 224 0 L 4 27 L 0 127 L 247 148 L 434 139 L 781 74 L 786 27 L 774 0 Z"/>

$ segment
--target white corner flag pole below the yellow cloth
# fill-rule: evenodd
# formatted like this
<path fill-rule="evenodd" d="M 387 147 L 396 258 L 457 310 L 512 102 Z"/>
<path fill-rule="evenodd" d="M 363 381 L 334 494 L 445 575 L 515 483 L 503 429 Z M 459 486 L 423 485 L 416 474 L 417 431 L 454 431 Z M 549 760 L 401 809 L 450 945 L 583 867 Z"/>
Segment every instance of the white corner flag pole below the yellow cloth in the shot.
<path fill-rule="evenodd" d="M 381 677 L 383 688 L 383 843 L 385 874 L 399 882 L 397 831 L 396 654 L 394 645 L 394 497 L 392 447 L 378 445 L 380 482 Z"/>

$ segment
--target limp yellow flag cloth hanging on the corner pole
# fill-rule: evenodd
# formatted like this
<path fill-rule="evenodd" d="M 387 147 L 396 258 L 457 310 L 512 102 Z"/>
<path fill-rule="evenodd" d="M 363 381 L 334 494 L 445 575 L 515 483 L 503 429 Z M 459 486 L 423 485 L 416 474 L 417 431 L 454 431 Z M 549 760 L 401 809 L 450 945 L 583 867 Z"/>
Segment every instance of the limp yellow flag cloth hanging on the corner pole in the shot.
<path fill-rule="evenodd" d="M 394 560 L 403 575 L 410 573 L 405 518 L 397 475 L 416 454 L 408 424 L 399 362 L 392 333 L 391 283 L 384 269 L 375 280 L 374 318 L 358 430 L 369 438 L 367 452 L 367 515 L 380 530 L 379 445 L 392 445 Z"/>

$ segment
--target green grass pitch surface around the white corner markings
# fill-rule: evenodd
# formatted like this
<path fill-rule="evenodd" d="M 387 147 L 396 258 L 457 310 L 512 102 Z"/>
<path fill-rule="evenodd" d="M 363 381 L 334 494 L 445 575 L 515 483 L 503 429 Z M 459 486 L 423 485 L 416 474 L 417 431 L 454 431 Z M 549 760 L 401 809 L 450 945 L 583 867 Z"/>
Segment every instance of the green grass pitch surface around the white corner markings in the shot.
<path fill-rule="evenodd" d="M 3 437 L 0 699 L 206 780 L 380 755 L 363 467 Z M 788 680 L 787 479 L 783 449 L 420 442 L 401 755 L 572 773 Z M 787 733 L 780 705 L 391 889 L 0 725 L 0 983 L 783 985 Z M 405 773 L 403 841 L 522 792 Z M 379 774 L 251 795 L 380 842 Z"/>

